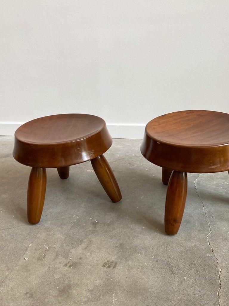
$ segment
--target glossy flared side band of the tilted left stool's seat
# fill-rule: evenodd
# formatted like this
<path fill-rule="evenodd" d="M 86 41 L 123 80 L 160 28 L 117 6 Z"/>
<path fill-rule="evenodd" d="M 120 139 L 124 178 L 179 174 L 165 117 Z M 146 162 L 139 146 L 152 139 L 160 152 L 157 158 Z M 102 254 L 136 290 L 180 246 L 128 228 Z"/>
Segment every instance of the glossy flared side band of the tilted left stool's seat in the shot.
<path fill-rule="evenodd" d="M 104 154 L 111 147 L 112 142 L 105 123 L 104 127 L 95 134 L 66 143 L 25 143 L 15 137 L 13 157 L 21 164 L 31 167 L 72 166 Z"/>

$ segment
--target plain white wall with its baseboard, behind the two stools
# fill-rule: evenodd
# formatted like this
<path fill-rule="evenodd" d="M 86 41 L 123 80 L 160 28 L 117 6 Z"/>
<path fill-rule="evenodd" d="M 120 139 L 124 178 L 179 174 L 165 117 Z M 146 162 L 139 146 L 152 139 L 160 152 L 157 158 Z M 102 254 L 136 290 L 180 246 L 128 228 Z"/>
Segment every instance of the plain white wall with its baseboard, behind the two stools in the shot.
<path fill-rule="evenodd" d="M 141 138 L 164 113 L 229 113 L 228 16 L 223 0 L 3 0 L 0 134 L 89 113 Z"/>

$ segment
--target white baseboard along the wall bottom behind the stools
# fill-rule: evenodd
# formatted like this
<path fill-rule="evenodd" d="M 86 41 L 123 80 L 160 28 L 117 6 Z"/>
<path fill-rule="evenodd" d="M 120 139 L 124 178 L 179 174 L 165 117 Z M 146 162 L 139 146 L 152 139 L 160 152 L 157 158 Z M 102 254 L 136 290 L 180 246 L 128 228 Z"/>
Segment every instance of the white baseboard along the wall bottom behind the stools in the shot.
<path fill-rule="evenodd" d="M 0 135 L 13 136 L 16 129 L 23 123 L 1 123 Z M 112 138 L 142 139 L 145 125 L 138 124 L 107 124 Z"/>

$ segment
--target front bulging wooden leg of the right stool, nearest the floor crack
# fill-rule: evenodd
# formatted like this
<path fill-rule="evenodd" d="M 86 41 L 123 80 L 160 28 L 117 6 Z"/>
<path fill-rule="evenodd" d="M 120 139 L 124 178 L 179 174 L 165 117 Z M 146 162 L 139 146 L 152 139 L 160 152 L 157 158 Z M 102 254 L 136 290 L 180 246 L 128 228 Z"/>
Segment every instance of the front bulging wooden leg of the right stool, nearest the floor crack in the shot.
<path fill-rule="evenodd" d="M 165 200 L 165 232 L 175 235 L 180 227 L 187 196 L 187 173 L 173 171 Z"/>

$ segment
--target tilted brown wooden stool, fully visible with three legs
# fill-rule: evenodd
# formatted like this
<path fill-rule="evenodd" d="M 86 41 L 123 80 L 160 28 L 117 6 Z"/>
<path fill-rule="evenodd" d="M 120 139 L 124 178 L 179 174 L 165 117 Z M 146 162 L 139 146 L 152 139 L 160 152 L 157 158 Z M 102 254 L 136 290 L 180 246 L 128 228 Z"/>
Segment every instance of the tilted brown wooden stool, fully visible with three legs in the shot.
<path fill-rule="evenodd" d="M 69 166 L 91 161 L 93 169 L 112 202 L 122 199 L 115 176 L 103 156 L 112 138 L 102 118 L 87 114 L 61 114 L 38 118 L 15 132 L 13 157 L 32 170 L 27 191 L 28 221 L 40 221 L 45 200 L 46 168 L 57 168 L 60 178 Z"/>

